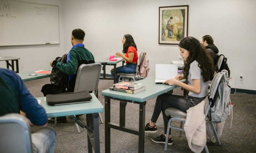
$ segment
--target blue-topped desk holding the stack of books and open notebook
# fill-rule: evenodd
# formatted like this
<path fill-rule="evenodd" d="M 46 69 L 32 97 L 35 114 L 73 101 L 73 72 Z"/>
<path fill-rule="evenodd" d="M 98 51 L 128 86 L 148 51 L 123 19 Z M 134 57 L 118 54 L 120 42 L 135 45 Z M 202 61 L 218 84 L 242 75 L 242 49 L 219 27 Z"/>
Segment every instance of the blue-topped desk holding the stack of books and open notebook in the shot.
<path fill-rule="evenodd" d="M 103 90 L 101 93 L 105 97 L 105 152 L 110 153 L 110 129 L 116 129 L 123 132 L 128 132 L 139 136 L 139 152 L 144 152 L 145 141 L 145 105 L 146 100 L 154 98 L 165 92 L 173 90 L 179 86 L 169 86 L 166 84 L 155 83 L 155 77 L 136 81 L 134 83 L 142 83 L 146 86 L 146 90 L 136 94 L 127 94 L 112 90 Z M 119 124 L 111 123 L 110 121 L 110 99 L 120 101 L 120 116 Z M 139 129 L 129 128 L 125 125 L 125 107 L 127 102 L 132 102 L 140 105 L 139 108 Z"/>

